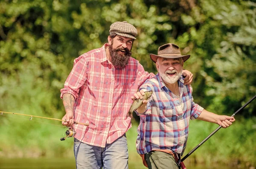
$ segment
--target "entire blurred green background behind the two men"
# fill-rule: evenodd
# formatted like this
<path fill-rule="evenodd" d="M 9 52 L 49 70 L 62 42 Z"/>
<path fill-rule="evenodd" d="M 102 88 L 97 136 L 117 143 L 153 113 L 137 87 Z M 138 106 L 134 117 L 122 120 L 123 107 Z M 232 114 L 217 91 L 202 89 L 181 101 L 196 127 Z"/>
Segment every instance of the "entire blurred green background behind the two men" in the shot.
<path fill-rule="evenodd" d="M 103 46 L 109 27 L 138 30 L 132 56 L 156 72 L 149 54 L 175 43 L 191 54 L 194 101 L 232 115 L 256 94 L 255 0 L 0 0 L 0 111 L 52 118 L 65 114 L 60 89 L 79 55 Z M 187 158 L 189 169 L 256 167 L 256 100 Z M 61 122 L 0 115 L 0 169 L 75 169 L 73 138 Z M 35 122 L 38 121 L 38 122 Z M 128 131 L 129 168 L 138 122 Z M 49 123 L 49 124 L 48 124 Z M 186 155 L 218 125 L 191 121 Z"/>

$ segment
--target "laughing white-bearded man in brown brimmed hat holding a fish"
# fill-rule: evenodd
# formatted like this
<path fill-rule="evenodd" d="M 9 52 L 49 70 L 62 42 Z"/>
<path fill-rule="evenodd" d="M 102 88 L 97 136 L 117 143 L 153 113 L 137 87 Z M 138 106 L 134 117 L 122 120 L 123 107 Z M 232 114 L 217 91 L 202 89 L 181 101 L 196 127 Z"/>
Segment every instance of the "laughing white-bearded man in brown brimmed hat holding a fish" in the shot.
<path fill-rule="evenodd" d="M 208 112 L 193 102 L 192 86 L 184 85 L 183 63 L 190 55 L 181 55 L 179 46 L 168 43 L 150 54 L 158 74 L 140 87 L 131 97 L 143 98 L 145 91 L 153 91 L 136 112 L 140 115 L 137 152 L 149 169 L 178 169 L 180 156 L 186 147 L 189 120 L 199 119 L 227 128 L 234 117 Z"/>

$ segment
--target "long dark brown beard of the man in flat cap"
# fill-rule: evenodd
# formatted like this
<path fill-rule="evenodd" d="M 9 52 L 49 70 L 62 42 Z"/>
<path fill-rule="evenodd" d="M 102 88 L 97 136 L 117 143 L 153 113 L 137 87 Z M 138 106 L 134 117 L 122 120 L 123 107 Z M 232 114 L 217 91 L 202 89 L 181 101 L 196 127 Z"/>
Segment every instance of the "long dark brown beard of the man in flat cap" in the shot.
<path fill-rule="evenodd" d="M 108 50 L 111 56 L 111 63 L 115 68 L 124 68 L 126 65 L 128 65 L 130 57 L 131 57 L 131 51 L 129 51 L 127 48 L 116 48 L 113 49 L 113 43 L 108 46 Z M 125 54 L 119 54 L 119 50 L 125 50 Z"/>

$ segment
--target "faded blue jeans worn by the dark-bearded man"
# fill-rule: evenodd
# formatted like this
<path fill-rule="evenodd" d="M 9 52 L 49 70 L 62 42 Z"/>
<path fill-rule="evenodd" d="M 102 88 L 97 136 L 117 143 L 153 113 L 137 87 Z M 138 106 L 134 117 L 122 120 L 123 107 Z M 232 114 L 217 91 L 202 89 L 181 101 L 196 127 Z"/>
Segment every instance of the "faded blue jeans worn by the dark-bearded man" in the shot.
<path fill-rule="evenodd" d="M 128 148 L 123 135 L 105 148 L 91 146 L 74 138 L 77 169 L 128 169 Z"/>

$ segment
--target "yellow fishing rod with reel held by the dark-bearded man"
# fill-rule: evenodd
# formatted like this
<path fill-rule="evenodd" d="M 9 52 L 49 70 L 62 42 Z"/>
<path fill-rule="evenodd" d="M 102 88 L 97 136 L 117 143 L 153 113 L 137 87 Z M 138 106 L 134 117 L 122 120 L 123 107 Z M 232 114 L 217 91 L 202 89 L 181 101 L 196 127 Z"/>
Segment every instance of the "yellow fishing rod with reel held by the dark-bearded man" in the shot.
<path fill-rule="evenodd" d="M 34 115 L 25 115 L 25 114 L 19 114 L 19 113 L 11 113 L 11 112 L 0 112 L 0 115 L 3 115 L 3 113 L 6 114 L 13 114 L 13 115 L 23 115 L 23 116 L 30 116 L 29 120 L 32 120 L 32 117 L 38 117 L 38 118 L 45 118 L 45 119 L 49 119 L 49 120 L 58 120 L 58 121 L 64 121 L 67 122 L 66 120 L 61 120 L 61 119 L 56 119 L 56 118 L 49 118 L 49 117 L 41 117 L 41 116 L 34 116 Z M 74 121 L 74 124 L 83 124 L 84 126 L 89 126 L 88 123 L 78 123 L 76 121 Z M 66 140 L 67 137 L 73 137 L 76 132 L 74 130 L 73 127 L 68 127 L 67 131 L 65 132 L 66 137 L 61 138 L 60 140 Z"/>

